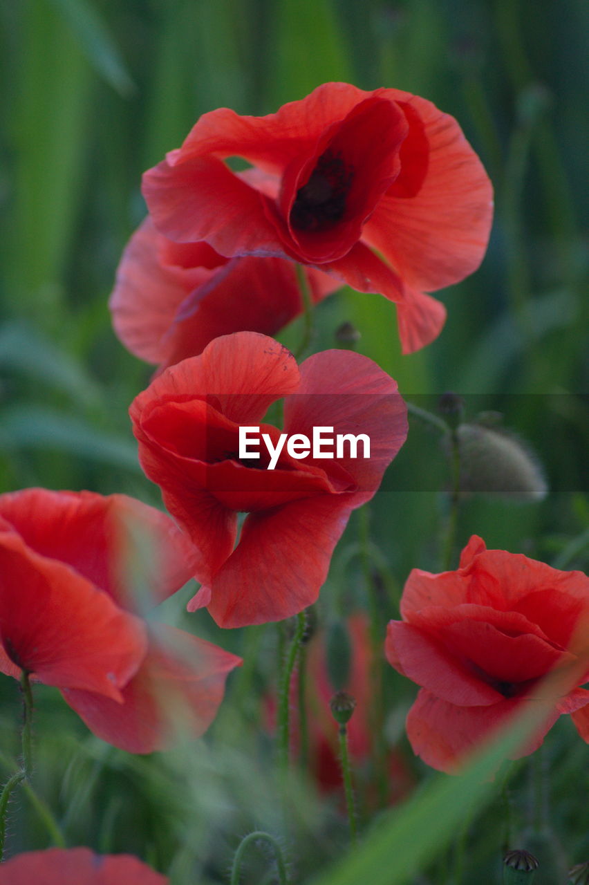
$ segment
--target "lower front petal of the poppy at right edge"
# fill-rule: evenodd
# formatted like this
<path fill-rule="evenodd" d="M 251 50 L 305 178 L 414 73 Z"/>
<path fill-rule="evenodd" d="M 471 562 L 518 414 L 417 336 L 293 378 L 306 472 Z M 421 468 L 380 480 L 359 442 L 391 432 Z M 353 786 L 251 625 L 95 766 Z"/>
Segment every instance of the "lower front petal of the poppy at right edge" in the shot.
<path fill-rule="evenodd" d="M 530 702 L 528 702 L 530 703 Z M 522 701 L 503 698 L 490 706 L 455 706 L 421 689 L 407 717 L 407 736 L 414 753 L 438 771 L 455 773 L 470 752 L 477 750 L 509 717 L 521 711 Z M 535 735 L 510 758 L 537 750 L 559 713 L 547 713 Z"/>

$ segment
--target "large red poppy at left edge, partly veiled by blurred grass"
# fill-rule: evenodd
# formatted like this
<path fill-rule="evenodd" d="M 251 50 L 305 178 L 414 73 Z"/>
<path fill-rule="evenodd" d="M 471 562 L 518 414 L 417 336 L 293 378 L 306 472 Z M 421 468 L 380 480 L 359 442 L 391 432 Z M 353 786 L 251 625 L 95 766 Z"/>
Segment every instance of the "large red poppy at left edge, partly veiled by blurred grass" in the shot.
<path fill-rule="evenodd" d="M 57 686 L 123 750 L 161 749 L 174 701 L 202 734 L 239 658 L 137 617 L 186 583 L 194 556 L 171 519 L 124 495 L 0 496 L 0 669 Z"/>

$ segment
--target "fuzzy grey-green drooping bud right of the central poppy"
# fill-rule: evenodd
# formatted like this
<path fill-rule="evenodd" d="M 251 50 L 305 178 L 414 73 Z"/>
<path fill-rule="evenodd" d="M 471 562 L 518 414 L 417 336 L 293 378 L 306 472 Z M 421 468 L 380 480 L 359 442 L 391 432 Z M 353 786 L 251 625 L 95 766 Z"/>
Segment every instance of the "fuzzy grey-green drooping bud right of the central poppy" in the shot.
<path fill-rule="evenodd" d="M 499 427 L 461 424 L 456 429 L 460 447 L 461 491 L 541 501 L 547 481 L 539 461 L 515 434 Z"/>

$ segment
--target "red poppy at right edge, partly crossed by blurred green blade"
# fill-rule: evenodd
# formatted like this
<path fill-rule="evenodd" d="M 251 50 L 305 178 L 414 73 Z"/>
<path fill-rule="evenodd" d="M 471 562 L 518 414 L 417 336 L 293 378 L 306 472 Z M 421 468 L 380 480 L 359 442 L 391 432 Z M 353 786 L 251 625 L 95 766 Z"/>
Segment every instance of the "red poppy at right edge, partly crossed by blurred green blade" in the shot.
<path fill-rule="evenodd" d="M 409 574 L 401 613 L 388 625 L 386 657 L 422 686 L 407 734 L 417 755 L 441 771 L 454 770 L 523 704 L 544 696 L 548 673 L 570 667 L 575 685 L 589 680 L 589 578 L 581 572 L 486 550 L 473 535 L 457 571 Z M 587 704 L 589 691 L 579 687 L 555 697 L 518 755 L 536 750 L 562 713 L 573 714 L 582 735 L 585 723 L 586 740 Z"/>

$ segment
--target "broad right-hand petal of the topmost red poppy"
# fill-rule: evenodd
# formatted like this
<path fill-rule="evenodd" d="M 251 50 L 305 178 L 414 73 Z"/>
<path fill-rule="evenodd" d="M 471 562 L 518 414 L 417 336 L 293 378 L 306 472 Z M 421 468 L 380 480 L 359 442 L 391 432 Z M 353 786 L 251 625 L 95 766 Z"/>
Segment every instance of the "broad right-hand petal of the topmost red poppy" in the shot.
<path fill-rule="evenodd" d="M 483 165 L 455 119 L 419 96 L 406 100 L 425 127 L 427 174 L 410 199 L 384 196 L 364 227 L 363 239 L 382 252 L 409 286 L 442 289 L 477 270 L 493 219 L 493 189 Z"/>

